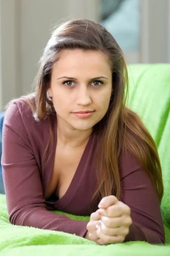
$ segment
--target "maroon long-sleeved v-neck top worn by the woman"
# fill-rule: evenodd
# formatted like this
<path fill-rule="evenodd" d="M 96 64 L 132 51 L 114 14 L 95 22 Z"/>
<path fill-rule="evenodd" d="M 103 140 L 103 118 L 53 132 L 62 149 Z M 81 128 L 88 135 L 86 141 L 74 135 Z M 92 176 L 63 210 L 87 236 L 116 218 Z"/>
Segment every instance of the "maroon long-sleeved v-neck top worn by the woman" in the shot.
<path fill-rule="evenodd" d="M 65 195 L 59 199 L 53 194 L 45 200 L 57 142 L 56 113 L 51 113 L 50 119 L 53 132 L 52 153 L 45 152 L 50 134 L 48 118 L 35 121 L 30 107 L 21 99 L 17 99 L 6 110 L 1 164 L 9 221 L 14 225 L 75 233 L 84 237 L 87 221 L 72 220 L 64 214 L 57 215 L 52 211 L 90 216 L 98 209 L 98 195 L 89 207 L 97 188 L 95 150 L 98 136 L 91 134 Z M 121 156 L 119 176 L 119 201 L 130 207 L 133 221 L 125 241 L 164 243 L 164 226 L 156 189 L 130 152 Z"/>

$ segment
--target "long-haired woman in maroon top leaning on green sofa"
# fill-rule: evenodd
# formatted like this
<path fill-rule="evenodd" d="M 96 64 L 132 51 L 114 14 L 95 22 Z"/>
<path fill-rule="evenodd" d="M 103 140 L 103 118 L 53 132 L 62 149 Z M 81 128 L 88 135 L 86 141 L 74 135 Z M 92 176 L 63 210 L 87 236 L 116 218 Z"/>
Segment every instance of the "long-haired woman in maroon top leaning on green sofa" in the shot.
<path fill-rule="evenodd" d="M 53 32 L 35 94 L 11 103 L 4 119 L 11 224 L 97 244 L 164 243 L 159 156 L 139 116 L 125 106 L 127 93 L 124 55 L 103 26 L 78 19 Z"/>

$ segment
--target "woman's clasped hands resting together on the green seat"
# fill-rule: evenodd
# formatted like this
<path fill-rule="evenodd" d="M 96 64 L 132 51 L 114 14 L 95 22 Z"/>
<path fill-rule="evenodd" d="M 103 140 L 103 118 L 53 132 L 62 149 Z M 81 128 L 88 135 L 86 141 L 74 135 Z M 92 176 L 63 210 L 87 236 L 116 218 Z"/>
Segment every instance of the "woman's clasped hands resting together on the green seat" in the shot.
<path fill-rule="evenodd" d="M 130 207 L 113 195 L 102 198 L 98 207 L 90 216 L 85 238 L 101 245 L 122 243 L 132 224 Z"/>

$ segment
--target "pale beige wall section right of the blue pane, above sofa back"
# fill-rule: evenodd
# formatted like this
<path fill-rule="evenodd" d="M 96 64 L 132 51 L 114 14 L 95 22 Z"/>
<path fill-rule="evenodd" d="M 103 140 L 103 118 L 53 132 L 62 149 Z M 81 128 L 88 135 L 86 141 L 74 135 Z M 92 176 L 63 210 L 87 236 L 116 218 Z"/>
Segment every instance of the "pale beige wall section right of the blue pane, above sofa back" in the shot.
<path fill-rule="evenodd" d="M 170 42 L 170 0 L 141 0 L 140 62 L 170 62 L 168 41 Z"/>

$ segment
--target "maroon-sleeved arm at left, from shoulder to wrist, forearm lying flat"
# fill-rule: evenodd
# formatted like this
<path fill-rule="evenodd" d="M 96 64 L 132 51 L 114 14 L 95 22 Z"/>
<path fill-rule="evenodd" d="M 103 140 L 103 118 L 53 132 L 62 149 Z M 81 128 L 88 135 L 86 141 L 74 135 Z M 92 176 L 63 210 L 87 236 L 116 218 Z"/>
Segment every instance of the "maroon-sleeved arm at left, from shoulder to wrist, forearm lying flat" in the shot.
<path fill-rule="evenodd" d="M 3 123 L 2 167 L 9 221 L 14 225 L 84 236 L 87 221 L 74 221 L 46 209 L 40 170 L 22 119 L 22 104 L 10 105 Z"/>

